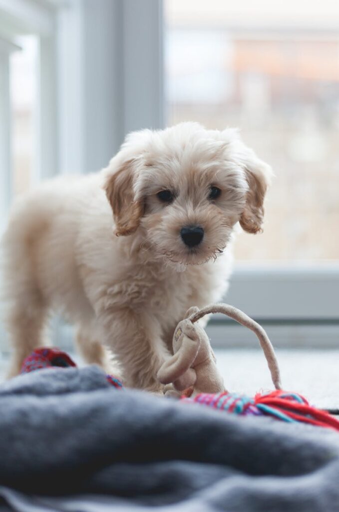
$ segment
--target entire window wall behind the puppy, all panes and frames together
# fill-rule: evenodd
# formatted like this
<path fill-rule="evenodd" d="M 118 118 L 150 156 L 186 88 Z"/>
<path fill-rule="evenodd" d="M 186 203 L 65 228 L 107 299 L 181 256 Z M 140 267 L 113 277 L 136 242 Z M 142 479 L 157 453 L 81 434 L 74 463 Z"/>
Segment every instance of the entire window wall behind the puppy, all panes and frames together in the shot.
<path fill-rule="evenodd" d="M 239 126 L 276 178 L 227 301 L 282 343 L 337 345 L 338 27 L 330 0 L 3 0 L 0 229 L 14 194 L 106 165 L 131 130 Z"/>

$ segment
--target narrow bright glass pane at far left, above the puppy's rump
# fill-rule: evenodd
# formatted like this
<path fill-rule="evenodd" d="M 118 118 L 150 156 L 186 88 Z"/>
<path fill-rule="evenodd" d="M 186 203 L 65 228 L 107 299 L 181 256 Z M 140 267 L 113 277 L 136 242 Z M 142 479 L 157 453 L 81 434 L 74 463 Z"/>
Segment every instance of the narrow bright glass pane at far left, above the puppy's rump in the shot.
<path fill-rule="evenodd" d="M 12 168 L 14 195 L 25 192 L 32 180 L 35 155 L 35 101 L 37 95 L 37 38 L 19 37 L 21 51 L 10 56 L 12 106 Z"/>

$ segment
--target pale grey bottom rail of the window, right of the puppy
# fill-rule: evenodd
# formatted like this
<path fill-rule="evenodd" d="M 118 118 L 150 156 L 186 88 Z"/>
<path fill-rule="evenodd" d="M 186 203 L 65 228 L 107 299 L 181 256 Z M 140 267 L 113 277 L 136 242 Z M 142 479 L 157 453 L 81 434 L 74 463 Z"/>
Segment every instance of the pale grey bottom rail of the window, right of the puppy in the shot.
<path fill-rule="evenodd" d="M 276 347 L 339 348 L 339 265 L 235 264 L 224 301 L 255 318 Z M 216 347 L 256 347 L 253 333 L 216 315 Z"/>

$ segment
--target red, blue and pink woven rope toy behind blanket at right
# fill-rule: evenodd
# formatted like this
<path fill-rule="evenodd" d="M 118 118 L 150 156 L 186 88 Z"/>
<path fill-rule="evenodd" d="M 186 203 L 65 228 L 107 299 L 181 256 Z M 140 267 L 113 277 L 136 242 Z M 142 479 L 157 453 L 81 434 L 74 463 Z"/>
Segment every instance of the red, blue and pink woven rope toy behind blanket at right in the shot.
<path fill-rule="evenodd" d="M 205 406 L 241 416 L 271 416 L 288 422 L 303 422 L 339 431 L 339 421 L 328 412 L 310 406 L 298 393 L 276 390 L 257 393 L 254 398 L 238 393 L 200 393 L 194 398 L 182 397 L 183 402 L 196 402 Z"/>

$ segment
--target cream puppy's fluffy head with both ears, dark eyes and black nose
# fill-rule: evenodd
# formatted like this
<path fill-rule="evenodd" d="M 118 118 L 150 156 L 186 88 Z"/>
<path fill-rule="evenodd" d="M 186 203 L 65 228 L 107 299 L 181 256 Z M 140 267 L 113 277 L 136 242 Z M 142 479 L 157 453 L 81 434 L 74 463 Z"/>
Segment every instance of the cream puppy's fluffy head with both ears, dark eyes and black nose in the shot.
<path fill-rule="evenodd" d="M 131 133 L 104 173 L 116 234 L 140 228 L 149 250 L 172 262 L 215 258 L 238 221 L 261 229 L 270 168 L 236 130 L 187 122 Z"/>

